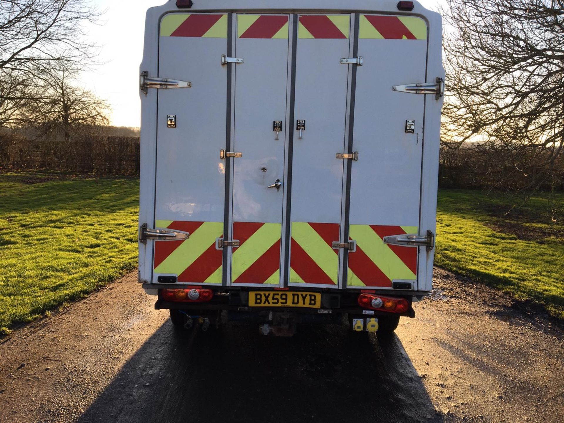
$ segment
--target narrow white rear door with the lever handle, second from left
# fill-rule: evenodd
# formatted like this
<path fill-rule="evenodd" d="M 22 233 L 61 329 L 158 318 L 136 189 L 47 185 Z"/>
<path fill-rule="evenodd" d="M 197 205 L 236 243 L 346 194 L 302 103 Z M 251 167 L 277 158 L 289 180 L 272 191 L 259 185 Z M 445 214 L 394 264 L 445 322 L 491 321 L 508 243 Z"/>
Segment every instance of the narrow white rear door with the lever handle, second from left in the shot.
<path fill-rule="evenodd" d="M 280 285 L 288 39 L 289 15 L 236 16 L 231 285 Z"/>

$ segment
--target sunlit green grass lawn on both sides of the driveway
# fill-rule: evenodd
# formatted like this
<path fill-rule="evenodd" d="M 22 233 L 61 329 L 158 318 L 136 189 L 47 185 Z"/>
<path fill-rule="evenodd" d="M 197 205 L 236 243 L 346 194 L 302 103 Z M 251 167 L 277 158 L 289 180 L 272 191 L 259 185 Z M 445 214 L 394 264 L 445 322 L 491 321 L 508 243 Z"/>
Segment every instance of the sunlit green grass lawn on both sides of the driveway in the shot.
<path fill-rule="evenodd" d="M 0 173 L 0 333 L 137 265 L 134 178 Z M 557 199 L 564 208 L 564 195 Z M 437 265 L 542 303 L 564 318 L 564 224 L 535 197 L 439 192 Z"/>

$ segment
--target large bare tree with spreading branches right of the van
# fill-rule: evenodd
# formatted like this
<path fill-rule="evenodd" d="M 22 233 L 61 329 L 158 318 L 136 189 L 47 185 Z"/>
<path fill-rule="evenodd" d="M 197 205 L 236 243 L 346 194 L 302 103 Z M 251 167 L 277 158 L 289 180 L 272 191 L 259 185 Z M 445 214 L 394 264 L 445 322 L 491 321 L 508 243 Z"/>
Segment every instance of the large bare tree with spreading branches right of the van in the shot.
<path fill-rule="evenodd" d="M 562 186 L 563 0 L 447 0 L 443 15 L 444 146 L 479 150 L 496 187 Z"/>

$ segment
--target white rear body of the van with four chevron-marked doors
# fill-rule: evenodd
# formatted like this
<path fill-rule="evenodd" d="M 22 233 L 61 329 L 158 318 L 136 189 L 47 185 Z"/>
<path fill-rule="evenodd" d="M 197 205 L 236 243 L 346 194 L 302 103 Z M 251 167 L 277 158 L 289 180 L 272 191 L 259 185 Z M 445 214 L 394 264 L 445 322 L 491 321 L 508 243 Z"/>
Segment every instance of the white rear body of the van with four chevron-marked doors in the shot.
<path fill-rule="evenodd" d="M 191 237 L 139 243 L 141 282 L 431 289 L 432 249 L 373 244 L 436 227 L 442 98 L 391 87 L 444 78 L 442 23 L 417 2 L 412 11 L 396 4 L 210 0 L 179 9 L 171 0 L 148 10 L 140 71 L 192 87 L 140 91 L 139 224 Z M 163 29 L 187 15 L 207 15 L 209 30 Z M 271 21 L 261 27 L 263 16 Z M 415 36 L 378 32 L 396 19 Z M 340 32 L 324 32 L 328 20 Z M 272 25 L 281 27 L 265 33 Z M 222 55 L 244 63 L 222 65 Z M 360 56 L 362 66 L 340 63 Z M 306 121 L 301 138 L 297 120 Z M 274 121 L 283 122 L 277 139 Z M 242 157 L 221 158 L 222 149 Z M 353 152 L 356 161 L 336 157 Z M 242 242 L 220 248 L 221 239 Z M 331 248 L 349 241 L 352 250 Z"/>

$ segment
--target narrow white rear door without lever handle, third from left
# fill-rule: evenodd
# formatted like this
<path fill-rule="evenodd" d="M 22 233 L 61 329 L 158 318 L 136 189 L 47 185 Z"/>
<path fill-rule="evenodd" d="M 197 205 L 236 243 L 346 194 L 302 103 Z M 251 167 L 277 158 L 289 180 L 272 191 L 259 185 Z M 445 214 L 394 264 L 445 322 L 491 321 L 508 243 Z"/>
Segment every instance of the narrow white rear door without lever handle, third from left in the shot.
<path fill-rule="evenodd" d="M 290 286 L 338 287 L 350 19 L 298 16 Z"/>

